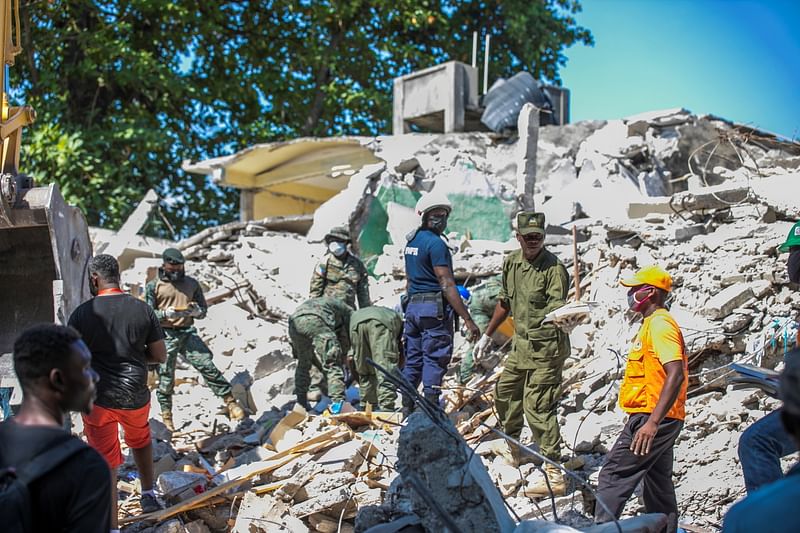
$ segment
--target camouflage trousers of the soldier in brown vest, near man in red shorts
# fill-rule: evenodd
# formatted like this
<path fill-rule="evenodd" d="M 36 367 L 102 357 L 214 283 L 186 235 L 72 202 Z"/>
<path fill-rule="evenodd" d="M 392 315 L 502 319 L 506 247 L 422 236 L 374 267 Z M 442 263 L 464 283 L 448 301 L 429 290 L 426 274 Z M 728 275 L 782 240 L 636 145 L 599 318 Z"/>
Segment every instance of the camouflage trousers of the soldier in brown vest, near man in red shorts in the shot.
<path fill-rule="evenodd" d="M 172 410 L 172 393 L 175 390 L 175 363 L 178 354 L 183 354 L 195 370 L 200 372 L 208 387 L 220 398 L 231 393 L 231 384 L 214 365 L 208 346 L 191 328 L 164 328 L 164 343 L 167 345 L 167 360 L 158 365 L 158 390 L 156 398 L 162 411 Z"/>

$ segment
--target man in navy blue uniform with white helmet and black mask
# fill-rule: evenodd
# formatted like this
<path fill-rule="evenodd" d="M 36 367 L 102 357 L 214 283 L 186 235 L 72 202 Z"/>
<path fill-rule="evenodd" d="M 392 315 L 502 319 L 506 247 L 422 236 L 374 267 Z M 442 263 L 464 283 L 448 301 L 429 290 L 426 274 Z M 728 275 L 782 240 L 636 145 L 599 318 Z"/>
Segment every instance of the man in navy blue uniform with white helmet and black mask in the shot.
<path fill-rule="evenodd" d="M 464 320 L 470 341 L 480 336 L 456 289 L 453 258 L 442 237 L 451 210 L 444 195 L 429 193 L 420 198 L 416 211 L 422 223 L 405 248 L 408 305 L 403 325 L 403 375 L 415 387 L 422 381 L 425 399 L 435 404 L 453 354 L 454 316 Z M 412 409 L 411 399 L 403 397 L 404 413 L 408 415 Z"/>

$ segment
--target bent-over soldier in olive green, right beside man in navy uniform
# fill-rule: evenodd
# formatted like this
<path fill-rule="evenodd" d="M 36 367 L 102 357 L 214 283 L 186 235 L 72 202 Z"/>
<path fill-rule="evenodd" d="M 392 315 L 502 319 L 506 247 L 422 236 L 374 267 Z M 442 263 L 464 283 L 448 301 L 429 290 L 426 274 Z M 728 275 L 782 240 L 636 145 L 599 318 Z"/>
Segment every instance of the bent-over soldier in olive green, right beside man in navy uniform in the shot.
<path fill-rule="evenodd" d="M 397 400 L 394 385 L 367 363 L 367 359 L 394 373 L 400 364 L 402 335 L 403 317 L 392 309 L 370 306 L 350 317 L 350 342 L 362 404 L 369 402 L 381 411 L 394 411 Z"/>

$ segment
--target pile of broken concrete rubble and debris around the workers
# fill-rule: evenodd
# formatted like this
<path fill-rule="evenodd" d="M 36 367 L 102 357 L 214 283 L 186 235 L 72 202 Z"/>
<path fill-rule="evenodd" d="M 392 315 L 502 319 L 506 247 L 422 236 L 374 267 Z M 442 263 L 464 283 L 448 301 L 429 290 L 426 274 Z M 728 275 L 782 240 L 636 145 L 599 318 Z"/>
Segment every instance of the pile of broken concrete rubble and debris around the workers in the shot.
<path fill-rule="evenodd" d="M 472 231 L 470 221 L 480 226 L 487 204 L 456 202 L 450 228 L 460 282 L 473 286 L 498 274 L 504 253 L 517 247 L 508 225 L 516 206 L 516 144 L 483 133 L 378 138 L 372 148 L 386 164 L 364 173 L 363 183 L 346 198 L 331 200 L 338 206 L 349 202 L 349 215 L 323 205 L 308 238 L 254 221 L 209 228 L 179 243 L 189 260 L 187 273 L 201 281 L 212 304 L 198 323 L 200 334 L 251 416 L 231 427 L 216 411 L 222 406 L 211 391 L 196 386 L 197 374 L 179 369 L 177 431 L 155 435 L 159 488 L 168 504 L 178 506 L 169 516 L 151 517 L 156 526 L 132 517 L 126 531 L 363 531 L 412 511 L 423 518 L 426 531 L 440 530 L 429 525 L 436 519 L 419 516 L 425 506 L 415 505 L 418 496 L 402 478 L 404 469 L 423 476 L 428 463 L 411 468 L 422 456 L 404 456 L 402 441 L 409 426 L 427 419 L 415 415 L 401 430 L 390 414 L 288 411 L 294 361 L 286 319 L 307 297 L 312 269 L 324 253 L 322 244 L 309 239 L 319 241 L 320 227 L 343 222 L 365 248 L 365 237 L 388 233 L 382 253 L 370 263 L 376 275 L 370 291 L 378 304 L 393 307 L 405 285 L 403 235 L 416 222 L 409 206 L 420 192 L 432 189 L 451 198 L 488 199 L 491 216 L 505 217 L 503 228 Z M 681 521 L 719 525 L 729 505 L 744 495 L 738 437 L 778 402 L 759 390 L 737 388 L 728 364 L 780 368 L 795 335 L 800 292 L 788 286 L 786 256 L 777 247 L 800 218 L 790 193 L 800 187 L 798 169 L 800 145 L 681 109 L 540 129 L 535 199 L 550 226 L 546 244 L 572 275 L 575 227 L 581 300 L 596 304 L 591 322 L 570 335 L 572 355 L 559 408 L 563 459 L 577 476 L 596 482 L 624 422 L 616 398 L 637 324 L 626 314 L 619 279 L 658 263 L 673 275 L 671 312 L 683 328 L 689 355 L 687 420 L 675 449 Z M 406 198 L 406 205 L 381 200 L 381 191 L 402 188 L 416 194 Z M 387 216 L 375 227 L 370 213 L 381 202 Z M 471 208 L 476 210 L 459 214 Z M 323 218 L 324 213 L 333 214 Z M 137 259 L 123 282 L 141 291 L 158 264 Z M 574 293 L 573 287 L 571 298 Z M 554 507 L 563 521 L 587 527 L 591 492 L 577 483 L 552 506 L 525 496 L 536 465 L 506 464 L 496 452 L 497 436 L 481 425 L 497 424 L 491 400 L 502 360 L 484 362 L 487 368 L 461 385 L 457 362 L 466 348 L 457 335 L 443 395 L 465 449 L 474 450 L 483 472 L 520 519 L 552 520 Z M 321 404 L 316 410 L 323 409 Z M 154 411 L 155 426 L 157 419 Z M 523 442 L 529 438 L 526 431 Z M 430 468 L 442 460 L 428 459 L 423 463 Z M 124 483 L 135 492 L 134 481 Z M 442 491 L 449 490 L 448 483 L 442 482 Z M 180 508 L 182 500 L 204 494 L 211 497 L 191 510 Z M 366 506 L 381 511 L 356 520 Z M 463 508 L 445 510 L 459 520 Z M 626 512 L 637 508 L 634 499 Z M 487 523 L 481 522 L 481 530 Z"/>

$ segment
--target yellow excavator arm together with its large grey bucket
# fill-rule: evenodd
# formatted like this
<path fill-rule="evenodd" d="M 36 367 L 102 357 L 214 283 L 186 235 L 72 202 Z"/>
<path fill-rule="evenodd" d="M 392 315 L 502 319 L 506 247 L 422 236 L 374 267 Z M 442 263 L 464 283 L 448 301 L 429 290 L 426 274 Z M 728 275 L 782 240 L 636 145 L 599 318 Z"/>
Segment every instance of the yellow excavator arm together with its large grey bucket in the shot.
<path fill-rule="evenodd" d="M 29 106 L 10 107 L 8 67 L 22 48 L 19 0 L 0 0 L 0 355 L 38 322 L 66 323 L 89 298 L 86 264 L 92 256 L 83 213 L 67 205 L 58 185 L 34 187 L 19 173 L 22 128 Z M 15 387 L 10 357 L 0 357 L 0 388 Z"/>

